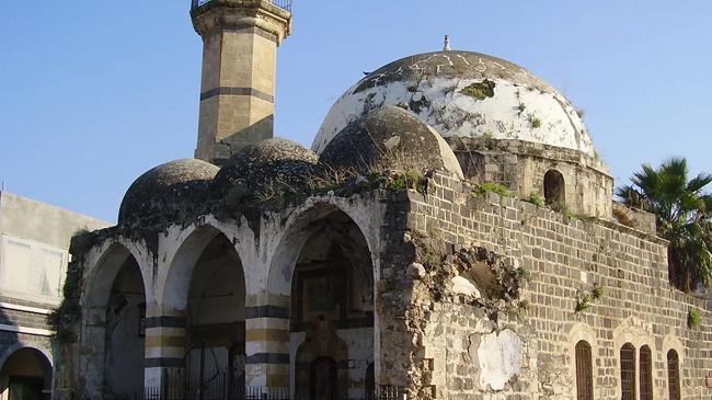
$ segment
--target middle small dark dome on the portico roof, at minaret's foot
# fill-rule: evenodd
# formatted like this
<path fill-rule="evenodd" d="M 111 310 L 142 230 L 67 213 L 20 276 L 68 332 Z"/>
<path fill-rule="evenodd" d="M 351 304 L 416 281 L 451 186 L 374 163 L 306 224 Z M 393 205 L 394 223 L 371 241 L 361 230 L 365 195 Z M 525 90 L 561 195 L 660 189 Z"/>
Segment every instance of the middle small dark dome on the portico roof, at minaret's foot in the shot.
<path fill-rule="evenodd" d="M 291 140 L 265 139 L 234 153 L 215 178 L 214 188 L 223 193 L 236 184 L 257 187 L 275 180 L 298 185 L 313 172 L 317 159 L 313 151 Z"/>

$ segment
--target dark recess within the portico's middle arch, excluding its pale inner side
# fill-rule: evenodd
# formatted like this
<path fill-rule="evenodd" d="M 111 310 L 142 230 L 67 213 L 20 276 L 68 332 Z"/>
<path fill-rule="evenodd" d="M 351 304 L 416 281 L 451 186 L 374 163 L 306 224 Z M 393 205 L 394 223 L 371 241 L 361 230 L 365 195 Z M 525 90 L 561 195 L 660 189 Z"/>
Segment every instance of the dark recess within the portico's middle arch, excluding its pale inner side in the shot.
<path fill-rule="evenodd" d="M 217 230 L 188 272 L 187 331 L 181 377 L 191 393 L 242 390 L 245 377 L 245 282 L 232 242 Z M 168 287 L 183 290 L 184 286 Z"/>

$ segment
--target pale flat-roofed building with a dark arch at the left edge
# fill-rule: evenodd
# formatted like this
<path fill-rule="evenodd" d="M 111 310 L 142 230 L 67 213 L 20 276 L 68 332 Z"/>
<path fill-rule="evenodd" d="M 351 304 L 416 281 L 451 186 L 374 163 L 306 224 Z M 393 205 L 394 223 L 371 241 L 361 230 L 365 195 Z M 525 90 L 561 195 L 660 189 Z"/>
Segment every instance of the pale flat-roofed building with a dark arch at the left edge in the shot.
<path fill-rule="evenodd" d="M 0 192 L 0 398 L 48 398 L 53 332 L 46 317 L 61 300 L 69 243 L 108 222 Z"/>

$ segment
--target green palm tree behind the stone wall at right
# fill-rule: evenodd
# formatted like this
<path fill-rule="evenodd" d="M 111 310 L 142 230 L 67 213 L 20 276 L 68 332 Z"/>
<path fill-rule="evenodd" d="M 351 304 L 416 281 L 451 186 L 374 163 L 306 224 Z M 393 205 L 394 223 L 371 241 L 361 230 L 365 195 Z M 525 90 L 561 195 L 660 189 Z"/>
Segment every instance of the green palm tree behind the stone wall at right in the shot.
<path fill-rule="evenodd" d="M 712 196 L 702 190 L 712 175 L 701 173 L 688 181 L 687 160 L 673 158 L 658 169 L 643 164 L 630 185 L 616 190 L 624 204 L 656 216 L 657 233 L 669 240 L 670 282 L 690 292 L 712 282 Z"/>

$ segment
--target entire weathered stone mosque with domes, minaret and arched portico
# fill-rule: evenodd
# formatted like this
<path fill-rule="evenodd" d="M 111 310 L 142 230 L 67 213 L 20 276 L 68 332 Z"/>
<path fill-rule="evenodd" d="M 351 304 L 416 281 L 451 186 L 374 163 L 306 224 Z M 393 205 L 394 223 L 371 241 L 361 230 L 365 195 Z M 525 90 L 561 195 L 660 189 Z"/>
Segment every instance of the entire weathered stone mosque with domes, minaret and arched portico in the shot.
<path fill-rule="evenodd" d="M 72 241 L 57 397 L 712 396 L 707 301 L 559 91 L 446 43 L 358 80 L 307 149 L 273 137 L 290 10 L 193 0 L 195 159 Z"/>

